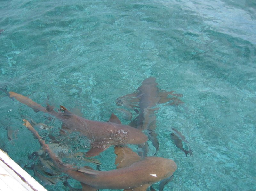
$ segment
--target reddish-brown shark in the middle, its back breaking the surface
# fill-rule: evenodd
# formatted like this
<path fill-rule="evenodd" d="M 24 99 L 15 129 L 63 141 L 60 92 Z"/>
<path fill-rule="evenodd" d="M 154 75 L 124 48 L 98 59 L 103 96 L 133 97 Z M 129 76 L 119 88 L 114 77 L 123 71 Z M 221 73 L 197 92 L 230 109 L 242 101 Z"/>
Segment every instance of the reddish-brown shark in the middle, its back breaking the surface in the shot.
<path fill-rule="evenodd" d="M 36 111 L 55 116 L 63 122 L 63 128 L 78 131 L 87 136 L 91 140 L 91 149 L 86 152 L 87 157 L 97 156 L 111 145 L 143 144 L 148 140 L 148 137 L 140 130 L 122 125 L 114 114 L 111 115 L 109 122 L 92 121 L 71 113 L 64 106 L 60 106 L 62 112 L 56 112 L 54 107 L 50 105 L 43 107 L 21 94 L 7 92 L 7 95 Z"/>

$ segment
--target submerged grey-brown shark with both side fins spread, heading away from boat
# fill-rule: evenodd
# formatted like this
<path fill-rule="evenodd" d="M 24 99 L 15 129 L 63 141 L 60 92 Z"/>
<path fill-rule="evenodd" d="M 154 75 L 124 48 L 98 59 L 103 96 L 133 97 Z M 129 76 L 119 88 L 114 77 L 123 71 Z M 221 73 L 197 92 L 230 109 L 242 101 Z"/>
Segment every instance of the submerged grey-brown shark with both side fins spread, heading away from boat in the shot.
<path fill-rule="evenodd" d="M 174 94 L 172 92 L 166 92 L 164 90 L 159 90 L 156 83 L 155 77 L 146 78 L 140 87 L 138 87 L 137 92 L 131 93 L 116 99 L 116 104 L 119 106 L 128 106 L 129 108 L 134 108 L 137 110 L 136 103 L 138 103 L 139 114 L 138 116 L 129 124 L 140 130 L 148 130 L 149 139 L 153 146 L 156 148 L 156 152 L 159 148 L 159 143 L 156 138 L 156 112 L 159 109 L 157 104 L 162 104 L 171 101 L 167 105 L 179 105 L 183 103 L 178 97 L 182 97 L 182 94 Z M 172 96 L 172 97 L 169 97 Z M 130 100 L 130 103 L 128 102 Z M 136 111 L 135 110 L 135 111 Z M 145 144 L 147 145 L 147 144 Z M 145 150 L 145 146 L 144 150 Z M 144 156 L 145 156 L 144 151 Z M 156 154 L 156 153 L 155 153 Z"/>

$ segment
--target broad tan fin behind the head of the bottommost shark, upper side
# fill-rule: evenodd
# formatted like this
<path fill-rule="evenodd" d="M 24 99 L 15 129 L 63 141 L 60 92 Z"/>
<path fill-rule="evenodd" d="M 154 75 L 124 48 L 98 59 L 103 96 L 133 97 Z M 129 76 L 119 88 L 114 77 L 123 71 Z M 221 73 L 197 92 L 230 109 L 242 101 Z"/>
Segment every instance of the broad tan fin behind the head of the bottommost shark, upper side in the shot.
<path fill-rule="evenodd" d="M 116 161 L 115 165 L 116 168 L 122 168 L 132 165 L 135 162 L 140 161 L 140 156 L 133 152 L 132 149 L 128 147 L 115 147 L 115 153 L 116 153 Z"/>

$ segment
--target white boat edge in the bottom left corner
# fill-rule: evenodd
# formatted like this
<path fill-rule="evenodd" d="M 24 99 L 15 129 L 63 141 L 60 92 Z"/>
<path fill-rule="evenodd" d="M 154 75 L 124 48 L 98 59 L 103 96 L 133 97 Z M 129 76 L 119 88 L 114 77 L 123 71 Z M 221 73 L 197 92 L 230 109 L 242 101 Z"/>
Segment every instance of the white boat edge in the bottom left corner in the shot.
<path fill-rule="evenodd" d="M 47 191 L 0 149 L 0 191 Z"/>

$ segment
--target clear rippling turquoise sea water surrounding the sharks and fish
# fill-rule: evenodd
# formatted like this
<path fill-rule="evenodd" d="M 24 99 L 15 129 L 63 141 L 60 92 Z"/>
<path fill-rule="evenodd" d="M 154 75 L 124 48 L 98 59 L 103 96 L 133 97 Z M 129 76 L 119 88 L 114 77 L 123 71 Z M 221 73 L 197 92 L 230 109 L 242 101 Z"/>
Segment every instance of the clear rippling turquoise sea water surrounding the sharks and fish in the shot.
<path fill-rule="evenodd" d="M 156 114 L 157 156 L 178 166 L 164 190 L 255 190 L 255 12 L 255 2 L 245 0 L 2 0 L 0 85 L 44 106 L 49 95 L 51 105 L 107 121 L 111 113 L 122 119 L 118 97 L 156 77 L 160 89 L 183 94 L 184 102 L 159 105 Z M 40 145 L 22 119 L 52 126 L 38 129 L 48 142 L 49 132 L 58 135 L 60 121 L 2 92 L 0 102 L 0 147 L 40 180 L 26 168 Z M 172 127 L 186 137 L 193 157 L 173 144 Z M 84 137 L 70 137 L 59 138 L 65 156 L 88 150 Z M 149 147 L 150 156 L 155 151 Z M 115 168 L 113 148 L 95 158 L 100 170 Z M 68 190 L 62 181 L 44 186 Z"/>

